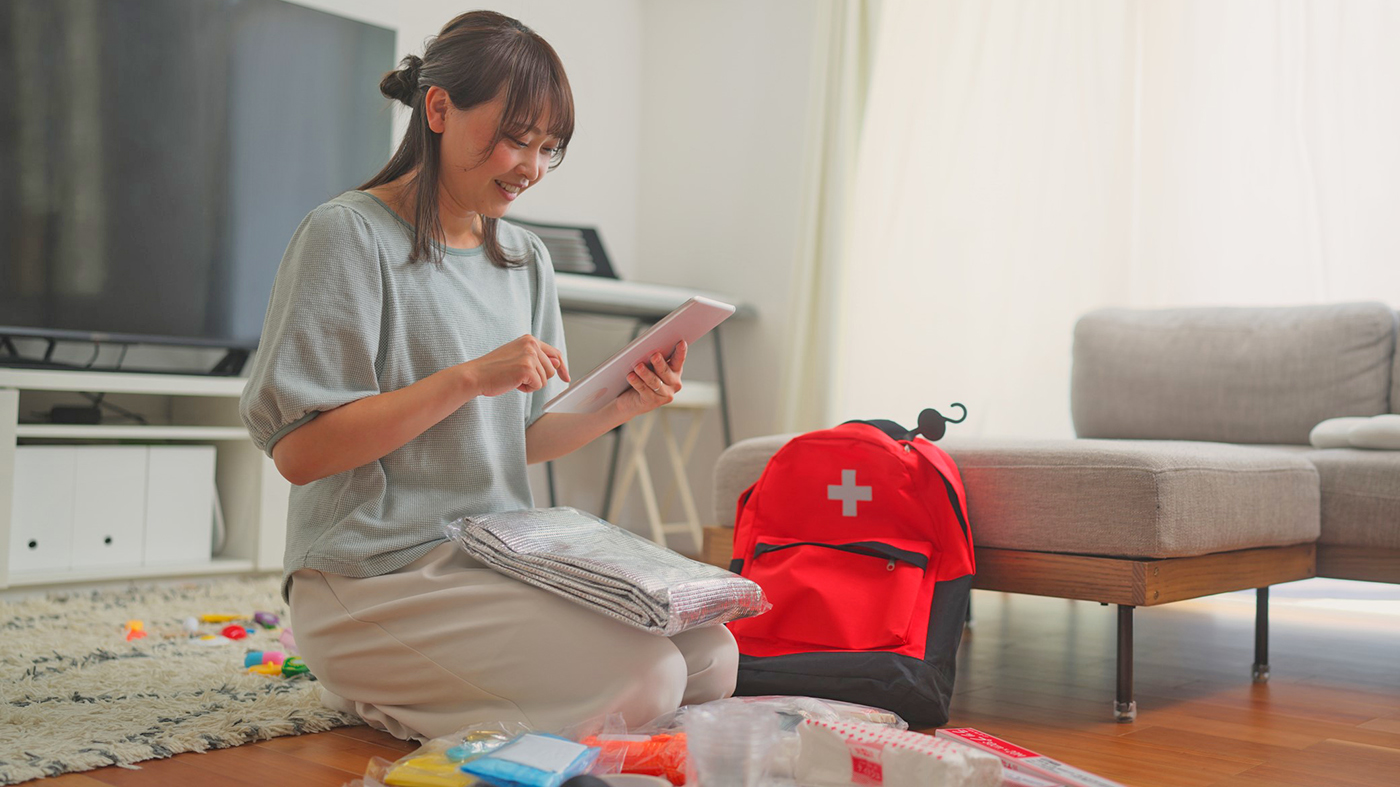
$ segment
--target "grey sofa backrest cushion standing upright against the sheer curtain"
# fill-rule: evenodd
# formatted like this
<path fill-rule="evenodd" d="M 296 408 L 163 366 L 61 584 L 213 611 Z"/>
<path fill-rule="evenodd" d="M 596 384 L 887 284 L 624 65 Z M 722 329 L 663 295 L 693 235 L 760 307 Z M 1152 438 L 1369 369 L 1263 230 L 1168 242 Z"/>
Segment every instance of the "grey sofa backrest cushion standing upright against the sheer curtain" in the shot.
<path fill-rule="evenodd" d="M 1306 444 L 1324 419 L 1390 412 L 1394 322 L 1385 304 L 1086 314 L 1075 433 Z"/>

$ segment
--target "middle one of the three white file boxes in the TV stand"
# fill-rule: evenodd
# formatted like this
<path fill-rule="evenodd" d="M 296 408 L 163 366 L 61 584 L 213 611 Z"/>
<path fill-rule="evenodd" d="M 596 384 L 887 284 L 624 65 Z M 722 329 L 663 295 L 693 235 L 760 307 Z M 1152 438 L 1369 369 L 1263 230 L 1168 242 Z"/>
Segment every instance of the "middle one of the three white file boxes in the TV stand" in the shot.
<path fill-rule="evenodd" d="M 73 569 L 140 566 L 146 445 L 80 445 L 73 494 Z"/>

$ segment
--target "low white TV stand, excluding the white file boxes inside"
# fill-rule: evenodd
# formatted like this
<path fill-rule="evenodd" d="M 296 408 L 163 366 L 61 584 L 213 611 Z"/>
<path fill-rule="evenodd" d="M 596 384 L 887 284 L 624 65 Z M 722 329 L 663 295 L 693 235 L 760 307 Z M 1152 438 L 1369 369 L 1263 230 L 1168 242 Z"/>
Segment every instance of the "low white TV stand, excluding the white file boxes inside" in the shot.
<path fill-rule="evenodd" d="M 200 577 L 280 571 L 291 485 L 253 447 L 238 415 L 244 378 L 0 368 L 0 588 L 76 584 L 141 577 Z M 106 394 L 147 424 L 21 423 L 73 395 Z M 227 538 L 210 560 L 183 564 L 69 571 L 13 571 L 17 545 L 10 528 L 15 447 L 22 443 L 204 444 L 216 450 L 214 473 Z M 22 545 L 18 545 L 22 548 Z M 21 566 L 22 569 L 22 566 Z"/>

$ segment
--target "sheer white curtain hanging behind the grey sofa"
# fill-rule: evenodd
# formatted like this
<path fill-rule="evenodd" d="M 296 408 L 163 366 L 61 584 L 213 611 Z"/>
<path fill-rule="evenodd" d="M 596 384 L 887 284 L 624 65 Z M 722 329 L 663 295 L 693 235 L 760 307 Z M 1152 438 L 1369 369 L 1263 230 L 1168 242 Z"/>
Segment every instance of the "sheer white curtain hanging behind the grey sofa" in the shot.
<path fill-rule="evenodd" d="M 1400 307 L 1397 38 L 1383 0 L 888 0 L 826 420 L 1067 437 L 1092 308 Z"/>

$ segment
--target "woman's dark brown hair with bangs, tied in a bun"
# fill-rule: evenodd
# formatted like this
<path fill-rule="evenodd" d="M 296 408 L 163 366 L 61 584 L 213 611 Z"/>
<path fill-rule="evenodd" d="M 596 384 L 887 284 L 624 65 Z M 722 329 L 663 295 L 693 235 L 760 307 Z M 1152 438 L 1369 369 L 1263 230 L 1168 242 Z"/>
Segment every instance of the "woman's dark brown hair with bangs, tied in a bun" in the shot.
<path fill-rule="evenodd" d="M 550 160 L 550 169 L 564 160 L 568 139 L 574 134 L 574 97 L 554 49 L 535 31 L 496 11 L 470 11 L 452 20 L 428 43 L 423 57 L 409 55 L 398 70 L 384 76 L 379 92 L 402 101 L 413 115 L 399 150 L 360 189 L 372 189 L 416 171 L 409 181 L 413 189 L 413 251 L 409 259 L 441 262 L 447 242 L 438 217 L 442 140 L 428 127 L 426 97 L 430 87 L 445 90 L 458 109 L 470 109 L 497 95 L 504 98 L 501 123 L 486 148 L 486 157 L 503 139 L 525 136 L 547 109 L 549 129 L 545 130 L 559 140 L 559 153 Z M 524 258 L 514 258 L 501 248 L 496 223 L 496 218 L 482 216 L 486 258 L 500 267 L 525 265 Z"/>

